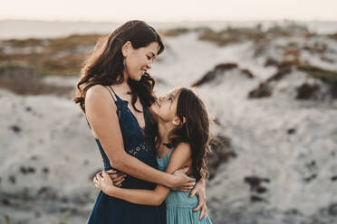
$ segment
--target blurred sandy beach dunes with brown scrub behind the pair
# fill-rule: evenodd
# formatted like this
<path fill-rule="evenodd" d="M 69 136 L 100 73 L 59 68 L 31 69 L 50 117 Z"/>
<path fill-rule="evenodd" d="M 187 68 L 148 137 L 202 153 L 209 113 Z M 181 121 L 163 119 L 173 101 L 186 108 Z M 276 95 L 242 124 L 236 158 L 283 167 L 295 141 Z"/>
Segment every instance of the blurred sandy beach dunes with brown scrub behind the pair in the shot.
<path fill-rule="evenodd" d="M 0 35 L 0 223 L 89 217 L 103 163 L 71 98 L 112 25 L 91 26 Z M 337 23 L 158 26 L 156 93 L 196 88 L 221 140 L 209 155 L 213 223 L 337 223 Z"/>

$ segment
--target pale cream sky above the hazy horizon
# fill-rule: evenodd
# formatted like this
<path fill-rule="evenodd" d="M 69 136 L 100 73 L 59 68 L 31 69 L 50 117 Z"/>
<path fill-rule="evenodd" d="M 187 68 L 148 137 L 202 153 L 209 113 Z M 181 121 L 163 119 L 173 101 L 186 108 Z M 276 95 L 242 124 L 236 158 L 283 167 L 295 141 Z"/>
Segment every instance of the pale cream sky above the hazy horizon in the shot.
<path fill-rule="evenodd" d="M 337 21 L 337 0 L 7 0 L 1 4 L 0 19 Z"/>

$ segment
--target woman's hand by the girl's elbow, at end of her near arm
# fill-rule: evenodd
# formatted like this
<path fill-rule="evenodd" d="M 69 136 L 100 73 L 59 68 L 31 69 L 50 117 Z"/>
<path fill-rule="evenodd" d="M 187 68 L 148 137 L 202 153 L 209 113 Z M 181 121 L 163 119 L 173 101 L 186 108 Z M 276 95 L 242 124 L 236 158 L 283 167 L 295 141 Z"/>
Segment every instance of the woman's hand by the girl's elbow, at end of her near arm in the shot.
<path fill-rule="evenodd" d="M 189 168 L 185 167 L 183 169 L 179 169 L 175 171 L 173 176 L 175 177 L 175 184 L 171 187 L 171 189 L 179 189 L 179 191 L 188 191 L 191 190 L 194 185 L 196 185 L 196 179 L 188 177 L 186 173 L 188 173 Z"/>

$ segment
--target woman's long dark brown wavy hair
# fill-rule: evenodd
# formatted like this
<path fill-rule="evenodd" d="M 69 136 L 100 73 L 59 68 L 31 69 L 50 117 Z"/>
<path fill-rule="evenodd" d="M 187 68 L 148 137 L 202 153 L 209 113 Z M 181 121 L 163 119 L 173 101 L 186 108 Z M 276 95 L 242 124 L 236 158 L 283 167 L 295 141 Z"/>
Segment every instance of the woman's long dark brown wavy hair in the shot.
<path fill-rule="evenodd" d="M 80 104 L 83 113 L 85 113 L 84 100 L 88 89 L 97 84 L 111 86 L 124 81 L 123 70 L 125 68 L 121 47 L 128 41 L 134 49 L 147 47 L 151 42 L 158 42 L 160 47 L 158 54 L 164 51 L 159 34 L 149 24 L 142 21 L 124 23 L 109 36 L 101 38 L 88 60 L 83 64 L 76 96 L 72 98 L 72 101 Z M 147 107 L 154 103 L 156 99 L 153 93 L 155 80 L 149 73 L 145 73 L 140 81 L 128 79 L 128 84 L 132 94 L 132 107 L 135 110 L 140 112 L 135 107 L 138 97 Z"/>

